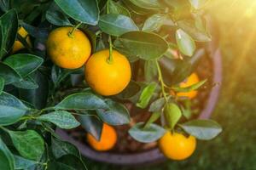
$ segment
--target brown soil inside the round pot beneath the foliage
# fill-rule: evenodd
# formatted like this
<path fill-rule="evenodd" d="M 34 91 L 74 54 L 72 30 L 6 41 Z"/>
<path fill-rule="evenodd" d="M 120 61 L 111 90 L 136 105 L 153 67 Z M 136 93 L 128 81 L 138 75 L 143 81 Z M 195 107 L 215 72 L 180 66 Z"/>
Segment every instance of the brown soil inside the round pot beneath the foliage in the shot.
<path fill-rule="evenodd" d="M 212 82 L 212 61 L 207 56 L 203 57 L 200 61 L 199 66 L 197 67 L 195 71 L 198 76 L 200 77 L 200 80 L 207 79 L 207 83 L 200 88 L 198 91 L 198 95 L 195 99 L 192 99 L 192 107 L 191 110 L 193 111 L 193 117 L 196 118 L 198 114 L 203 110 L 204 106 L 206 105 L 208 95 L 211 91 L 211 88 L 214 86 Z M 126 107 L 131 109 L 131 105 L 126 105 Z M 141 110 L 139 110 L 141 111 Z M 113 150 L 110 150 L 110 152 L 115 153 L 134 153 L 134 152 L 140 152 L 143 150 L 150 150 L 153 149 L 157 143 L 148 143 L 143 144 L 140 142 L 137 142 L 135 139 L 132 139 L 131 136 L 128 133 L 128 130 L 137 122 L 146 122 L 148 120 L 148 117 L 150 116 L 149 113 L 142 111 L 142 113 L 133 113 L 134 111 L 131 111 L 131 123 L 129 125 L 123 125 L 123 126 L 116 126 L 116 130 L 118 133 L 118 141 Z M 81 143 L 86 144 L 86 138 L 85 138 L 85 131 L 82 127 L 76 128 L 73 131 L 69 132 L 74 139 L 79 140 Z"/>

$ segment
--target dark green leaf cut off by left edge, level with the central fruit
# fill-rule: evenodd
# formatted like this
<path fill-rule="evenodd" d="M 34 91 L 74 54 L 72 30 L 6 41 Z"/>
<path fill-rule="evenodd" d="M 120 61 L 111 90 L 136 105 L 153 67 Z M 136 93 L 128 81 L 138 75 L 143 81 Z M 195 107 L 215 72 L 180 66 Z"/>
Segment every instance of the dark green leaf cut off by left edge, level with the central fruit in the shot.
<path fill-rule="evenodd" d="M 3 77 L 5 84 L 19 82 L 21 80 L 20 75 L 14 69 L 3 63 L 0 63 L 0 77 Z"/>

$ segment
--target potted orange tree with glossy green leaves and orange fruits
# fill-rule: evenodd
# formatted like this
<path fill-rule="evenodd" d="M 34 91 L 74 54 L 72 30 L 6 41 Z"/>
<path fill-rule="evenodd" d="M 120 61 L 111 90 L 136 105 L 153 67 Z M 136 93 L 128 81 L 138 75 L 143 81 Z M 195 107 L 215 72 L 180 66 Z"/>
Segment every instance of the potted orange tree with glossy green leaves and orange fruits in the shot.
<path fill-rule="evenodd" d="M 83 122 L 100 139 L 103 122 L 130 122 L 125 103 L 151 113 L 131 127 L 131 137 L 160 139 L 172 159 L 190 156 L 195 139 L 216 137 L 217 122 L 187 120 L 180 104 L 206 82 L 180 85 L 200 59 L 196 42 L 211 40 L 206 3 L 1 1 L 0 169 L 86 168 L 55 127 Z"/>

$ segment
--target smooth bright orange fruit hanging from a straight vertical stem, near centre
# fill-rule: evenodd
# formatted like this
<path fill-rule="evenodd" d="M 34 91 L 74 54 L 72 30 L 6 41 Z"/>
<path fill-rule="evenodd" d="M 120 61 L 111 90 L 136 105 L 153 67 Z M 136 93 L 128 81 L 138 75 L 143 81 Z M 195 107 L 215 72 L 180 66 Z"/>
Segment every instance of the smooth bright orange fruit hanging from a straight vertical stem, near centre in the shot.
<path fill-rule="evenodd" d="M 126 57 L 113 50 L 113 61 L 108 62 L 109 50 L 91 55 L 85 64 L 85 80 L 96 93 L 105 96 L 119 94 L 131 80 L 131 65 Z"/>

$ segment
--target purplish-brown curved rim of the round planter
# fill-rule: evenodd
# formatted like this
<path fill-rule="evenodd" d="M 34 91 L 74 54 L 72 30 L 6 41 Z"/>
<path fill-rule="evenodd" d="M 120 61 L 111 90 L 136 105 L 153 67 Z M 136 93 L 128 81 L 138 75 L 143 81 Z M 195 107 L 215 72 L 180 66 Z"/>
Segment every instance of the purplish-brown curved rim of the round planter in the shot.
<path fill-rule="evenodd" d="M 208 94 L 207 102 L 201 110 L 199 119 L 207 119 L 211 116 L 212 111 L 218 101 L 220 83 L 222 82 L 222 65 L 221 54 L 218 48 L 215 48 L 214 43 L 210 42 L 208 47 L 208 55 L 212 59 L 212 82 L 218 82 L 218 85 L 211 89 Z M 159 161 L 164 161 L 166 158 L 160 153 L 158 148 L 145 150 L 135 153 L 114 153 L 114 152 L 98 152 L 93 150 L 87 144 L 81 143 L 73 139 L 66 131 L 57 129 L 56 132 L 62 139 L 76 145 L 81 154 L 94 161 L 102 161 L 123 166 L 137 166 L 142 164 L 150 164 Z"/>

